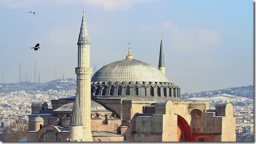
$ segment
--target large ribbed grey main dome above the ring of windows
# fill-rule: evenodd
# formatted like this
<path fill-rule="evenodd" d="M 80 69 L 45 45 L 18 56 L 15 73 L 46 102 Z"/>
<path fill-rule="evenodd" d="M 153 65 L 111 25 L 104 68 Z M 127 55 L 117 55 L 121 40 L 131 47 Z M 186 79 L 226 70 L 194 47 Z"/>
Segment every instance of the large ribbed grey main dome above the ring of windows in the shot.
<path fill-rule="evenodd" d="M 136 59 L 123 59 L 101 67 L 92 82 L 169 82 L 160 70 Z"/>

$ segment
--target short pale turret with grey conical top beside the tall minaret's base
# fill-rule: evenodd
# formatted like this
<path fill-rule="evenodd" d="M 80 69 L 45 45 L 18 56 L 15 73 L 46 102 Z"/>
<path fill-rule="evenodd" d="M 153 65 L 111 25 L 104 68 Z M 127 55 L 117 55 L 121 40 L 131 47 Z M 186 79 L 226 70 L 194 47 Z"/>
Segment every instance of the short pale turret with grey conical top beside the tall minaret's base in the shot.
<path fill-rule="evenodd" d="M 75 96 L 75 102 L 72 109 L 72 117 L 70 121 L 70 142 L 83 141 L 83 122 L 81 116 L 81 109 L 79 104 L 79 96 Z"/>

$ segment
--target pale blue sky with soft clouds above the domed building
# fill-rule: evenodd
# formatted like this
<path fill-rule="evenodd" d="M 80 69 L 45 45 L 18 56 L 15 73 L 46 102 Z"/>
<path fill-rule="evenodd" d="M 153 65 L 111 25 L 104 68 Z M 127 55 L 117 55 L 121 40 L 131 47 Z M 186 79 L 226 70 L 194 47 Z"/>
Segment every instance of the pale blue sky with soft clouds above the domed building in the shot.
<path fill-rule="evenodd" d="M 124 59 L 129 42 L 157 67 L 163 35 L 166 76 L 182 93 L 254 84 L 249 0 L 1 0 L 0 83 L 19 82 L 19 64 L 33 78 L 35 61 L 41 82 L 75 78 L 83 9 L 96 70 Z"/>

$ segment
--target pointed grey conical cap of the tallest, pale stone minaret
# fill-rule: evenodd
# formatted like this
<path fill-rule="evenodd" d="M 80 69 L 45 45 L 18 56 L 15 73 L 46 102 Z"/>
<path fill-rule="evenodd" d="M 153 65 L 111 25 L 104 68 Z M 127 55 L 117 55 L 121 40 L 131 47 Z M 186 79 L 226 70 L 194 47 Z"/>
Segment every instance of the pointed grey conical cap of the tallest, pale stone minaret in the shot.
<path fill-rule="evenodd" d="M 83 11 L 83 18 L 82 18 L 82 23 L 80 27 L 79 40 L 77 41 L 77 44 L 90 44 L 84 11 Z"/>

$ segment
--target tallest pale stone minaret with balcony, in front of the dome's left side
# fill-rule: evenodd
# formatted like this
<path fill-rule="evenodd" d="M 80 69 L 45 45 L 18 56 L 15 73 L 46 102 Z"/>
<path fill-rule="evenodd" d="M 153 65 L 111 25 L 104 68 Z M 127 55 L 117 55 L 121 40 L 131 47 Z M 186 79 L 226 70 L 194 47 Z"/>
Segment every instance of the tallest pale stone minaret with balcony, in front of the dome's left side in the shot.
<path fill-rule="evenodd" d="M 79 96 L 83 122 L 83 141 L 93 142 L 91 131 L 91 75 L 90 67 L 90 40 L 83 11 L 82 24 L 80 28 L 78 45 L 78 66 L 75 68 L 77 74 L 77 96 Z"/>

